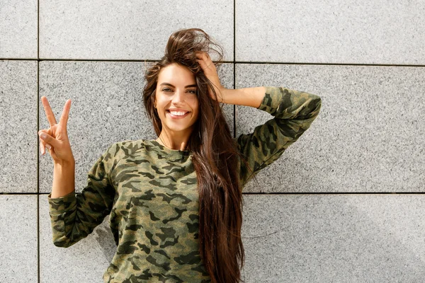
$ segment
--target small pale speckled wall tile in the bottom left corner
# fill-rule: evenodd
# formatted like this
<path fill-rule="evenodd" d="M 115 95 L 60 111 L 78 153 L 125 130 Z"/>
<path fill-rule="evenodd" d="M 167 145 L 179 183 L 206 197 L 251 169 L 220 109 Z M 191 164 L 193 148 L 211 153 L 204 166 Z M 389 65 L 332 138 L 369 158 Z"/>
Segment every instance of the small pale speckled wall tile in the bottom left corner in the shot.
<path fill-rule="evenodd" d="M 37 283 L 37 195 L 0 195 L 0 282 Z"/>

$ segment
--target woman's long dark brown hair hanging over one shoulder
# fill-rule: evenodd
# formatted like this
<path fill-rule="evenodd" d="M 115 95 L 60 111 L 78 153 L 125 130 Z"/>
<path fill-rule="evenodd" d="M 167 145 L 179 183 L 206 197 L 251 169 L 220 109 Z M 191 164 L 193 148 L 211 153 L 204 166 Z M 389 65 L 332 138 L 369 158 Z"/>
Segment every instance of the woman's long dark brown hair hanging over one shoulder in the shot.
<path fill-rule="evenodd" d="M 159 71 L 177 63 L 195 75 L 199 117 L 188 140 L 188 150 L 193 154 L 198 178 L 200 257 L 212 282 L 239 282 L 240 269 L 244 265 L 244 246 L 241 239 L 242 187 L 237 163 L 238 156 L 243 158 L 234 144 L 220 103 L 208 95 L 210 86 L 217 98 L 212 83 L 196 61 L 197 51 L 217 55 L 214 64 L 220 67 L 222 47 L 203 30 L 190 28 L 173 33 L 166 44 L 164 57 L 146 71 L 143 101 L 159 136 L 162 123 L 154 108 Z"/>

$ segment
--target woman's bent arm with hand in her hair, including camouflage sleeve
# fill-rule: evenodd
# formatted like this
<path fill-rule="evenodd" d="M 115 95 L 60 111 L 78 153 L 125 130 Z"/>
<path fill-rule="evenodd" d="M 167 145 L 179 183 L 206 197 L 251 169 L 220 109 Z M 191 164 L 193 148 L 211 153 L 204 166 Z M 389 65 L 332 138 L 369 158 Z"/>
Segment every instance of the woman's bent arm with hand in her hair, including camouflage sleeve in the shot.
<path fill-rule="evenodd" d="M 283 87 L 227 89 L 221 85 L 208 53 L 199 52 L 196 57 L 220 103 L 251 106 L 274 116 L 257 126 L 251 134 L 241 134 L 235 139 L 239 153 L 249 167 L 239 162 L 239 178 L 243 187 L 254 174 L 276 161 L 310 127 L 319 115 L 322 99 L 311 93 Z M 216 98 L 214 92 L 209 88 L 212 99 Z"/>

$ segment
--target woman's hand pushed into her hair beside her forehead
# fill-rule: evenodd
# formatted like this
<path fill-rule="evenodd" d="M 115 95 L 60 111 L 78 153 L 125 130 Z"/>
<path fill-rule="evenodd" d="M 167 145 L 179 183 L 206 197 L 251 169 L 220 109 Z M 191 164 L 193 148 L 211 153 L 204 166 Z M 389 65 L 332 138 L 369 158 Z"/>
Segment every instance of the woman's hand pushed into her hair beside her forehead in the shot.
<path fill-rule="evenodd" d="M 207 79 L 209 79 L 214 86 L 215 93 L 217 93 L 218 102 L 223 102 L 223 93 L 225 88 L 221 85 L 220 79 L 218 78 L 217 69 L 215 68 L 215 64 L 212 62 L 210 55 L 207 52 L 196 52 L 196 57 L 198 58 L 196 61 L 200 64 L 200 67 L 203 69 L 203 72 Z M 208 93 L 210 94 L 210 98 L 215 100 L 214 93 L 208 86 Z"/>

